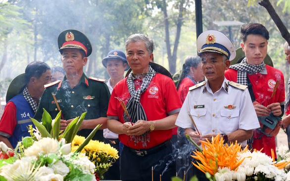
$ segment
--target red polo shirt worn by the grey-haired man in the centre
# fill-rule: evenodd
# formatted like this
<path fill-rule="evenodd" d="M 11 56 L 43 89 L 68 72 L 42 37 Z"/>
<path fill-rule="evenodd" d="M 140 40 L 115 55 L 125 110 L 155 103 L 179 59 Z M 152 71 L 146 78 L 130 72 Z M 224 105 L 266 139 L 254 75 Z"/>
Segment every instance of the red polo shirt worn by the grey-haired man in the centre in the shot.
<path fill-rule="evenodd" d="M 121 80 L 114 87 L 111 94 L 107 116 L 118 117 L 119 121 L 124 123 L 123 109 L 119 101 L 115 98 L 118 97 L 127 104 L 128 99 L 131 97 L 127 82 L 127 78 Z M 135 88 L 139 89 L 142 84 L 142 80 L 135 79 Z M 169 115 L 179 112 L 182 107 L 182 103 L 177 94 L 174 82 L 169 77 L 156 73 L 149 83 L 147 89 L 141 94 L 140 103 L 143 106 L 148 121 L 160 120 L 166 118 Z M 172 129 L 168 130 L 154 130 L 149 132 L 150 139 L 147 142 L 145 149 L 154 147 L 158 144 L 163 143 L 172 136 Z M 131 137 L 128 138 L 126 134 L 119 134 L 120 141 L 134 149 L 144 149 L 143 143 L 134 143 Z"/>

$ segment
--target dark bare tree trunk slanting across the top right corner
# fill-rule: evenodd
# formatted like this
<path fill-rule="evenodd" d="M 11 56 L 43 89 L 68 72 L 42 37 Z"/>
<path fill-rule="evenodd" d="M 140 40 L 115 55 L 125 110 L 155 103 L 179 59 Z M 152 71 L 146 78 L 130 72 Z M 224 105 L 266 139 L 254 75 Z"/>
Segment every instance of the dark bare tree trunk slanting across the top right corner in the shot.
<path fill-rule="evenodd" d="M 290 45 L 290 33 L 288 32 L 287 28 L 283 24 L 282 20 L 280 19 L 279 15 L 276 13 L 274 7 L 272 6 L 269 0 L 262 0 L 259 4 L 266 8 L 268 13 L 270 14 L 271 18 L 275 22 L 276 26 L 278 27 L 279 31 L 281 32 L 282 37 L 288 42 Z"/>

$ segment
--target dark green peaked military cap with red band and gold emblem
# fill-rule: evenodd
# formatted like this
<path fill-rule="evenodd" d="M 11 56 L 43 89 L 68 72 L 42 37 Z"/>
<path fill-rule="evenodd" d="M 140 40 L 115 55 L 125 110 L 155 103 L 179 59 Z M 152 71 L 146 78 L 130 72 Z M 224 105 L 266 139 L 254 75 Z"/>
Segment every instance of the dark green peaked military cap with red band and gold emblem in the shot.
<path fill-rule="evenodd" d="M 92 54 L 92 45 L 90 40 L 78 30 L 64 30 L 58 35 L 57 44 L 59 52 L 66 48 L 81 49 L 85 52 L 86 57 Z"/>

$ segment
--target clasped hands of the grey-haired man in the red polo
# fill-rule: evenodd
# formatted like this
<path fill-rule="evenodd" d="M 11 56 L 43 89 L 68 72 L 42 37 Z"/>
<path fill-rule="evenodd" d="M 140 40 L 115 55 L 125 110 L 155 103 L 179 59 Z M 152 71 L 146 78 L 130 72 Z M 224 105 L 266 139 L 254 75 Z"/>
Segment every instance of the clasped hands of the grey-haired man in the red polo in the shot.
<path fill-rule="evenodd" d="M 149 130 L 149 127 L 150 127 L 150 121 L 138 120 L 135 124 L 128 127 L 127 135 L 144 134 L 145 132 Z"/>

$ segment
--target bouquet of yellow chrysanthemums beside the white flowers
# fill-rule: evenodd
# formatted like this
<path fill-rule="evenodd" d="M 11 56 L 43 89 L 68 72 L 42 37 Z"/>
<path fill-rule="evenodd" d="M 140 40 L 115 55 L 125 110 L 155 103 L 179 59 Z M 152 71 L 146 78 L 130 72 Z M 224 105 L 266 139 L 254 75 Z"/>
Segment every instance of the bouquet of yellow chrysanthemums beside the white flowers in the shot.
<path fill-rule="evenodd" d="M 72 151 L 77 150 L 84 140 L 85 137 L 76 135 L 71 143 Z M 97 179 L 103 179 L 103 174 L 119 158 L 118 151 L 115 148 L 97 140 L 90 140 L 81 150 L 81 153 L 84 153 L 95 164 Z"/>

